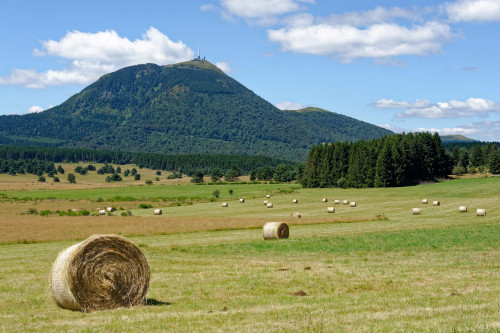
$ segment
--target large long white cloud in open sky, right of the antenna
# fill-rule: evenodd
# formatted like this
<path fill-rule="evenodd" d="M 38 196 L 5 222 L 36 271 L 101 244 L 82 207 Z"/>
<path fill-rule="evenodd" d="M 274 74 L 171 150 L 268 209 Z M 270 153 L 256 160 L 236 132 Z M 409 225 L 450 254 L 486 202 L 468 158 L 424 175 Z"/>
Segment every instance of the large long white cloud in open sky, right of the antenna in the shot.
<path fill-rule="evenodd" d="M 348 63 L 355 58 L 389 58 L 403 55 L 423 56 L 441 52 L 453 38 L 450 27 L 427 22 L 410 28 L 390 23 L 358 28 L 341 24 L 314 24 L 305 27 L 269 29 L 271 41 L 283 51 L 329 55 Z"/>

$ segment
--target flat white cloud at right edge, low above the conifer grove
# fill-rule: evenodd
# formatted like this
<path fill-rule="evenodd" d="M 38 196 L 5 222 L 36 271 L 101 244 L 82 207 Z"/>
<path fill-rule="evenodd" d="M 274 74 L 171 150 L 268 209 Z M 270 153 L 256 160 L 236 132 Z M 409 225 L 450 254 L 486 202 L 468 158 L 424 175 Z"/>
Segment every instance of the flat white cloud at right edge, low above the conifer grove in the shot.
<path fill-rule="evenodd" d="M 490 113 L 500 114 L 500 103 L 482 98 L 471 97 L 466 101 L 450 100 L 432 104 L 427 100 L 416 100 L 413 103 L 407 101 L 394 101 L 382 99 L 372 104 L 377 108 L 384 109 L 406 109 L 403 113 L 396 114 L 398 118 L 421 117 L 421 118 L 457 118 L 488 116 Z"/>

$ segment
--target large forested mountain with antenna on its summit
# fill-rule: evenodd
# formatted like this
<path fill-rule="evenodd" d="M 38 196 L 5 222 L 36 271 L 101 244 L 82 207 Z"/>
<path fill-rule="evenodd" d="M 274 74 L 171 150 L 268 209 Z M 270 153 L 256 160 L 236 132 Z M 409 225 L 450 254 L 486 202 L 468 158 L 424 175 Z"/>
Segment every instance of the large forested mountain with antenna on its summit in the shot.
<path fill-rule="evenodd" d="M 312 145 L 390 131 L 322 109 L 281 111 L 208 61 L 143 64 L 64 103 L 0 117 L 0 143 L 302 160 Z"/>

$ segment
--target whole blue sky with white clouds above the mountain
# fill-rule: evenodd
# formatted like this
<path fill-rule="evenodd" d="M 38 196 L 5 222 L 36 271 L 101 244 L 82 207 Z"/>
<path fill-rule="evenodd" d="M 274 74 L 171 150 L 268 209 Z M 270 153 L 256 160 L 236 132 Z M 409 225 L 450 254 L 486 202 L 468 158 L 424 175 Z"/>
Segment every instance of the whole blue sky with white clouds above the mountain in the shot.
<path fill-rule="evenodd" d="M 500 0 L 1 0 L 0 114 L 201 56 L 279 108 L 500 141 Z"/>

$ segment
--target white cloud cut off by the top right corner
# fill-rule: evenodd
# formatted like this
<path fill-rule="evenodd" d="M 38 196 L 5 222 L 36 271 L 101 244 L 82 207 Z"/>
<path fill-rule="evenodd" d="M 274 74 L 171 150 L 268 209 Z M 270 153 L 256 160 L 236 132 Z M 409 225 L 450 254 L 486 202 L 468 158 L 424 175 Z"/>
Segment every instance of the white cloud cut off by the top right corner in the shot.
<path fill-rule="evenodd" d="M 451 21 L 500 21 L 500 0 L 459 0 L 446 3 L 444 9 Z"/>

